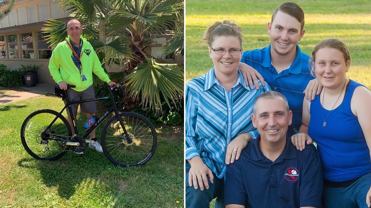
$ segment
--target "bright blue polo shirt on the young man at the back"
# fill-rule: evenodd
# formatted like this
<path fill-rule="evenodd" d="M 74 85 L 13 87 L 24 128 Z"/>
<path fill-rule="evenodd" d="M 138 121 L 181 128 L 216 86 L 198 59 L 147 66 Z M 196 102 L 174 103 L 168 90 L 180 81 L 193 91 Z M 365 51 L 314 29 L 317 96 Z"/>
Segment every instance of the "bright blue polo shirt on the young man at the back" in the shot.
<path fill-rule="evenodd" d="M 314 79 L 310 71 L 310 57 L 302 53 L 298 45 L 296 45 L 296 51 L 298 53 L 291 66 L 279 74 L 272 65 L 270 45 L 262 49 L 245 51 L 241 59 L 241 62 L 255 68 L 272 90 L 285 95 L 292 111 L 292 124 L 288 129 L 289 136 L 299 132 L 302 124 L 303 100 L 305 96 L 303 91 L 309 81 Z"/>

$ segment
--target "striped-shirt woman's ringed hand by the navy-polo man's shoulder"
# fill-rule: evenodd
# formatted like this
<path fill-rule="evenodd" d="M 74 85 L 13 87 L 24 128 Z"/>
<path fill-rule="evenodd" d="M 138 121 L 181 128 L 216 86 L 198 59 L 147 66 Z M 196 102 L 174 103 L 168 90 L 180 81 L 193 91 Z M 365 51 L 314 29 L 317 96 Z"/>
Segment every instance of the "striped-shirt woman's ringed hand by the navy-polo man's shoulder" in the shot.
<path fill-rule="evenodd" d="M 241 151 L 247 146 L 247 142 L 251 141 L 252 138 L 249 133 L 243 133 L 234 138 L 227 147 L 226 152 L 226 164 L 233 163 L 234 160 L 240 158 Z"/>

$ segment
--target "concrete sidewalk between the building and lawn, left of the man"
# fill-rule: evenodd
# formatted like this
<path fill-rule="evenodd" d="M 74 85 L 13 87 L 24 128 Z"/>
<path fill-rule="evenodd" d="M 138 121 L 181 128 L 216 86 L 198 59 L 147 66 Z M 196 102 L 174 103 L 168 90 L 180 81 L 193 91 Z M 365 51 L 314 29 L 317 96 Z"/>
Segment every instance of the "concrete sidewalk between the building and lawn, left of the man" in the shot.
<path fill-rule="evenodd" d="M 54 94 L 54 84 L 37 83 L 35 87 L 22 86 L 20 88 L 22 88 L 24 90 L 29 90 L 29 91 L 20 92 L 20 93 L 17 93 L 17 94 L 1 97 L 0 98 L 0 105 L 1 104 L 13 103 L 13 102 L 16 102 L 16 101 L 19 101 L 19 100 L 32 98 L 32 97 L 36 97 L 36 96 L 47 94 L 47 93 Z"/>

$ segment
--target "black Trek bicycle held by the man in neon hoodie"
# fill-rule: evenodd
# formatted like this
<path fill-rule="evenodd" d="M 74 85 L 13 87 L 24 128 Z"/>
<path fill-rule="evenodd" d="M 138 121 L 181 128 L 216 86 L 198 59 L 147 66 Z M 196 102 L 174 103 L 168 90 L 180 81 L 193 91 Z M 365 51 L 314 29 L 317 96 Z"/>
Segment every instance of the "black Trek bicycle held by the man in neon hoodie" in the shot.
<path fill-rule="evenodd" d="M 50 109 L 37 110 L 27 116 L 21 127 L 23 147 L 32 157 L 38 160 L 57 160 L 68 151 L 74 151 L 76 147 L 84 150 L 86 144 L 94 143 L 88 137 L 90 132 L 114 112 L 114 116 L 103 128 L 101 136 L 102 149 L 108 160 L 127 167 L 142 165 L 151 159 L 157 147 L 155 127 L 141 114 L 119 113 L 112 90 L 122 90 L 124 97 L 121 85 L 109 87 L 109 96 L 72 102 L 68 100 L 64 90 L 60 90 L 58 85 L 55 87 L 55 94 L 66 100 L 65 107 L 59 113 Z M 97 118 L 84 135 L 78 134 L 76 124 L 72 122 L 75 130 L 75 135 L 72 135 L 71 127 L 62 112 L 67 108 L 74 120 L 71 104 L 108 99 L 111 99 L 112 105 Z"/>

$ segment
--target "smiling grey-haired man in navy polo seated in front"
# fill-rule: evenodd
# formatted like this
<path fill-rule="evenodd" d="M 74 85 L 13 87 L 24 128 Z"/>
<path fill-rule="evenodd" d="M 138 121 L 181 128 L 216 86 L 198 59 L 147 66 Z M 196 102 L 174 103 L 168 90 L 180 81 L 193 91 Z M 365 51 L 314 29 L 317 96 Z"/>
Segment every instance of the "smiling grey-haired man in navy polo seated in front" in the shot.
<path fill-rule="evenodd" d="M 291 144 L 286 132 L 292 111 L 285 96 L 260 94 L 251 118 L 260 136 L 227 166 L 226 208 L 321 207 L 321 159 L 313 145 L 299 151 Z"/>

